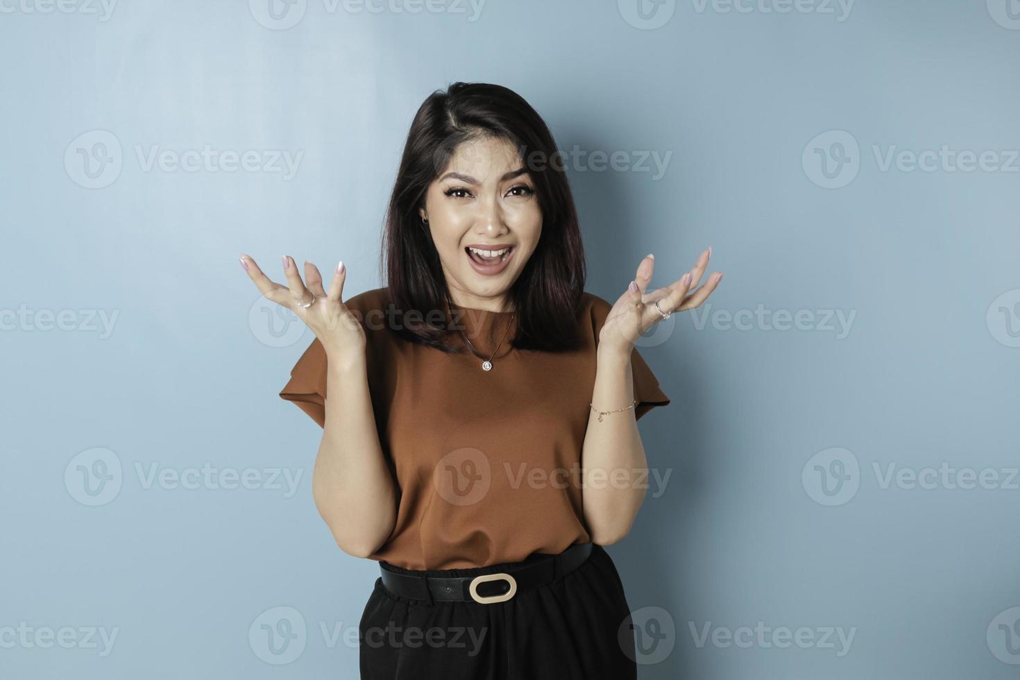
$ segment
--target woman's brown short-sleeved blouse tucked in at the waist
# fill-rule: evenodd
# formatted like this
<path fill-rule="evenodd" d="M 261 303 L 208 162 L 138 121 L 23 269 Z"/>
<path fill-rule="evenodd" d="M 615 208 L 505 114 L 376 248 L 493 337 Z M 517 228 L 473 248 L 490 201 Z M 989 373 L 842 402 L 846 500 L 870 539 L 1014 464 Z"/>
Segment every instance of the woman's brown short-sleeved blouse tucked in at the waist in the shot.
<path fill-rule="evenodd" d="M 370 559 L 405 569 L 461 569 L 560 553 L 590 540 L 580 454 L 596 346 L 610 303 L 584 293 L 582 350 L 515 350 L 507 338 L 491 371 L 470 351 L 447 354 L 389 331 L 390 319 L 400 317 L 385 316 L 386 287 L 345 304 L 365 326 L 375 425 L 400 489 L 396 526 Z M 453 321 L 487 358 L 504 332 L 512 332 L 512 312 L 453 311 Z M 634 416 L 669 404 L 636 349 L 630 365 Z M 326 355 L 317 338 L 279 396 L 324 426 Z M 608 417 L 621 416 L 626 412 Z"/>

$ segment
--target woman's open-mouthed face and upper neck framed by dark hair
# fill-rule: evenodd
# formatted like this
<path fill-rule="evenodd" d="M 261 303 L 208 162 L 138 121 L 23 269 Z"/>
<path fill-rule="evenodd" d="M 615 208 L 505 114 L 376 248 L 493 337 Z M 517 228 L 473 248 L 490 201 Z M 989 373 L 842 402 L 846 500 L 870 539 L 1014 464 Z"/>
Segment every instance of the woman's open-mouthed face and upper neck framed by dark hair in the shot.
<path fill-rule="evenodd" d="M 534 182 L 513 145 L 482 137 L 458 146 L 420 214 L 454 304 L 503 311 L 542 233 Z"/>

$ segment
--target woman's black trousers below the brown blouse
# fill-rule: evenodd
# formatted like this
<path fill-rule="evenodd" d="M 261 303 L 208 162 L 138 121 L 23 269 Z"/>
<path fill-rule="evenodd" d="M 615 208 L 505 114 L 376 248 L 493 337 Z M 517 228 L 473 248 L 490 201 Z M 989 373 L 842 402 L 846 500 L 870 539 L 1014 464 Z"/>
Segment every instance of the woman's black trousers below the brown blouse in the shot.
<path fill-rule="evenodd" d="M 532 555 L 524 562 L 551 559 Z M 477 576 L 505 567 L 393 569 Z M 377 578 L 359 624 L 361 680 L 634 680 L 629 615 L 623 584 L 601 545 L 565 576 L 504 603 L 408 599 Z"/>

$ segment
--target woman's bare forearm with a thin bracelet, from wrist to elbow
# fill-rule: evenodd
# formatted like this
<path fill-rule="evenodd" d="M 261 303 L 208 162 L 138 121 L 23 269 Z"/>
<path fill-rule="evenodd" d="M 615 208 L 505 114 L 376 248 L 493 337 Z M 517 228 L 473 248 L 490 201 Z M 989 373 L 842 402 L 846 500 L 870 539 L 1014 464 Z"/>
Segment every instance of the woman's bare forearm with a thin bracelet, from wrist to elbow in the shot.
<path fill-rule="evenodd" d="M 592 404 L 614 411 L 633 402 L 630 355 L 598 354 Z M 648 463 L 638 431 L 634 409 L 604 415 L 589 409 L 588 430 L 581 449 L 584 520 L 593 542 L 620 540 L 630 530 L 645 500 Z"/>

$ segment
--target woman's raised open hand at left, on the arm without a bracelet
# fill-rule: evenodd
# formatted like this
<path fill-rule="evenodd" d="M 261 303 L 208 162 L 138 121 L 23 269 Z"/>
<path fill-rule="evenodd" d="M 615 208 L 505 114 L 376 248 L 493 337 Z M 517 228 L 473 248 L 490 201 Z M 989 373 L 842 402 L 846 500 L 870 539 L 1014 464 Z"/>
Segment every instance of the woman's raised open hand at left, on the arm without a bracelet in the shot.
<path fill-rule="evenodd" d="M 344 280 L 347 278 L 347 267 L 343 262 L 337 265 L 328 293 L 322 287 L 322 276 L 318 268 L 311 262 L 305 262 L 305 279 L 308 281 L 306 286 L 298 273 L 297 263 L 289 255 L 284 256 L 284 274 L 288 285 L 270 280 L 248 255 L 241 256 L 241 266 L 267 300 L 287 307 L 312 329 L 325 349 L 329 361 L 344 363 L 364 359 L 365 329 L 361 325 L 361 319 L 341 302 Z M 303 307 L 313 300 L 313 294 L 315 302 L 308 308 Z"/>

